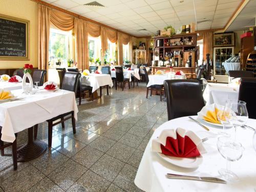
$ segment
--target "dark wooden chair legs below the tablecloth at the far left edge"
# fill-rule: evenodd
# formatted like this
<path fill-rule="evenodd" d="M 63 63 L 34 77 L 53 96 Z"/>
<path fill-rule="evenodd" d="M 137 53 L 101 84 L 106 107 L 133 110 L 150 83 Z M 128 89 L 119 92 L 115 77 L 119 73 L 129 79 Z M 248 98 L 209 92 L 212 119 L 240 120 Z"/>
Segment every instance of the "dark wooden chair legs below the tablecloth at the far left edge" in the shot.
<path fill-rule="evenodd" d="M 0 126 L 0 139 L 2 137 L 2 126 Z M 15 137 L 17 137 L 17 134 L 15 134 Z M 15 139 L 13 143 L 7 143 L 4 144 L 4 141 L 0 140 L 0 150 L 1 150 L 1 156 L 10 156 L 9 154 L 5 154 L 5 148 L 8 146 L 12 146 L 12 163 L 13 163 L 13 169 L 17 170 L 17 140 Z"/>

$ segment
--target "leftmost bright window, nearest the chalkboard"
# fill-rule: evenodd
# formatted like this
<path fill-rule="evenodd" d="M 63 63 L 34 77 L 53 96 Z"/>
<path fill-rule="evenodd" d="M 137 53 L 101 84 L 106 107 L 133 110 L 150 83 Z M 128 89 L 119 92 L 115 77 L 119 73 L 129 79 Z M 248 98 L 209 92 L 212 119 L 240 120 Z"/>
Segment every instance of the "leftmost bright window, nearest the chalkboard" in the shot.
<path fill-rule="evenodd" d="M 50 29 L 49 37 L 49 63 L 52 66 L 67 65 L 72 58 L 72 31 Z"/>

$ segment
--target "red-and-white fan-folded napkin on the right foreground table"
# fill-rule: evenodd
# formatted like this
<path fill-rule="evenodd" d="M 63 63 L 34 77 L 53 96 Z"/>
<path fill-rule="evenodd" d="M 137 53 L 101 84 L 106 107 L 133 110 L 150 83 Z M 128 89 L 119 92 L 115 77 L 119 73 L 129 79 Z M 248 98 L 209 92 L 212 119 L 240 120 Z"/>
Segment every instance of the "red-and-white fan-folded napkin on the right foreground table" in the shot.
<path fill-rule="evenodd" d="M 163 130 L 152 140 L 152 151 L 182 158 L 206 153 L 202 140 L 194 132 L 182 128 Z"/>

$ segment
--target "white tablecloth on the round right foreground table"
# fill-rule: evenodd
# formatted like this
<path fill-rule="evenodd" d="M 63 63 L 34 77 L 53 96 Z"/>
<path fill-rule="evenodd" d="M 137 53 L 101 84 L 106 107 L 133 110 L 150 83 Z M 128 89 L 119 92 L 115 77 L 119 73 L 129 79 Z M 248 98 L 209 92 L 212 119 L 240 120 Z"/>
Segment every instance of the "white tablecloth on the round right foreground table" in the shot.
<path fill-rule="evenodd" d="M 249 119 L 246 124 L 255 127 L 256 120 Z M 162 130 L 175 129 L 176 127 L 194 131 L 200 138 L 208 137 L 208 140 L 204 142 L 207 153 L 203 154 L 203 162 L 197 169 L 187 169 L 172 165 L 161 159 L 157 153 L 151 152 L 152 139 L 157 138 Z M 237 130 L 237 141 L 241 142 L 245 147 L 245 151 L 239 161 L 231 163 L 231 170 L 238 175 L 240 178 L 239 182 L 220 184 L 166 178 L 167 173 L 218 177 L 218 170 L 226 167 L 226 159 L 220 155 L 217 149 L 217 133 L 221 128 L 209 127 L 209 129 L 209 132 L 205 131 L 200 125 L 191 121 L 188 117 L 173 119 L 159 126 L 147 144 L 134 181 L 135 184 L 142 190 L 152 192 L 254 191 L 256 188 L 256 152 L 252 146 L 253 132 L 247 129 Z M 234 129 L 230 129 L 228 132 L 233 133 Z"/>

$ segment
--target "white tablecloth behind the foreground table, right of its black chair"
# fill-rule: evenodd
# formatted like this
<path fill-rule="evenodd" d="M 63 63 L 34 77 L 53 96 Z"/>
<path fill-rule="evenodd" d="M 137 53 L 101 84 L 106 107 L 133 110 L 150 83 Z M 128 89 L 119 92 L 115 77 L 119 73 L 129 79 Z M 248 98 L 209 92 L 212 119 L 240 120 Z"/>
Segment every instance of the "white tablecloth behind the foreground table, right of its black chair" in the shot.
<path fill-rule="evenodd" d="M 204 90 L 204 100 L 206 105 L 217 103 L 225 105 L 226 100 L 238 100 L 239 86 L 224 83 L 208 83 Z"/>

